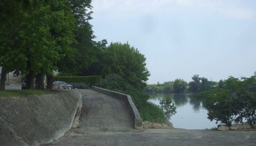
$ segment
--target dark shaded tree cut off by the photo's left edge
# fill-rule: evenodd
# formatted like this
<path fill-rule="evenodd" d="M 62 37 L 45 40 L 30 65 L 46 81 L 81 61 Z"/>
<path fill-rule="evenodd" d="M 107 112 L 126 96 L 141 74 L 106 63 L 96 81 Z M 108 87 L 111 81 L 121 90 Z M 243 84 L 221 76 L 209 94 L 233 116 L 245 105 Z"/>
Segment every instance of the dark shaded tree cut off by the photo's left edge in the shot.
<path fill-rule="evenodd" d="M 0 90 L 5 89 L 5 74 L 14 70 L 21 70 L 26 64 L 25 55 L 20 52 L 22 41 L 19 31 L 24 19 L 23 11 L 29 8 L 28 0 L 0 1 Z"/>

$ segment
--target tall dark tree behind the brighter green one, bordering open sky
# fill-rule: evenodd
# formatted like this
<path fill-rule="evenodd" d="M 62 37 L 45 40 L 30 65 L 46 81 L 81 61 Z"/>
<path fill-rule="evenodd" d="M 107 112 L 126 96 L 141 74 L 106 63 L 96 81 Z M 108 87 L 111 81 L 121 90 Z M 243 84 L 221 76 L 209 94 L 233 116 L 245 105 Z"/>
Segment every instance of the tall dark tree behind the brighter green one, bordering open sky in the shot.
<path fill-rule="evenodd" d="M 74 35 L 76 43 L 73 47 L 77 50 L 75 57 L 66 55 L 64 60 L 58 62 L 58 69 L 62 75 L 82 75 L 81 70 L 97 60 L 98 48 L 95 47 L 93 39 L 91 0 L 71 0 L 71 13 L 75 18 Z"/>

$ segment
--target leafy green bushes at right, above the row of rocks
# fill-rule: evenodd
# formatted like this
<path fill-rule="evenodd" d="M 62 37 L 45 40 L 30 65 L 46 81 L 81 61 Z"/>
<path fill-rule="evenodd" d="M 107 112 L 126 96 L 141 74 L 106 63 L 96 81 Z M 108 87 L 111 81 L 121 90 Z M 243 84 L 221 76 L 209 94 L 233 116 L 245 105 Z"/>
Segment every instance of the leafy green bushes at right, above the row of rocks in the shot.
<path fill-rule="evenodd" d="M 224 81 L 224 89 L 212 89 L 197 94 L 204 100 L 208 119 L 217 123 L 242 123 L 246 119 L 250 124 L 256 123 L 256 74 L 242 80 L 230 76 Z"/>

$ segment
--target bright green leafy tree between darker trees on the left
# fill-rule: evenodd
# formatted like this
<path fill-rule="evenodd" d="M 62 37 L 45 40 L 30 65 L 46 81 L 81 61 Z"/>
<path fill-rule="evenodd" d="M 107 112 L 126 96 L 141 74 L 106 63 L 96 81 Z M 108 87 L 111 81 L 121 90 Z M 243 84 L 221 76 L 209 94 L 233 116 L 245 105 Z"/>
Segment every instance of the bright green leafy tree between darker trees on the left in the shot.
<path fill-rule="evenodd" d="M 33 88 L 35 74 L 52 74 L 55 62 L 73 54 L 74 17 L 68 0 L 33 1 L 24 15 L 21 46 L 27 57 L 26 88 Z M 68 55 L 67 55 L 68 54 Z M 50 83 L 50 82 L 49 82 Z"/>

